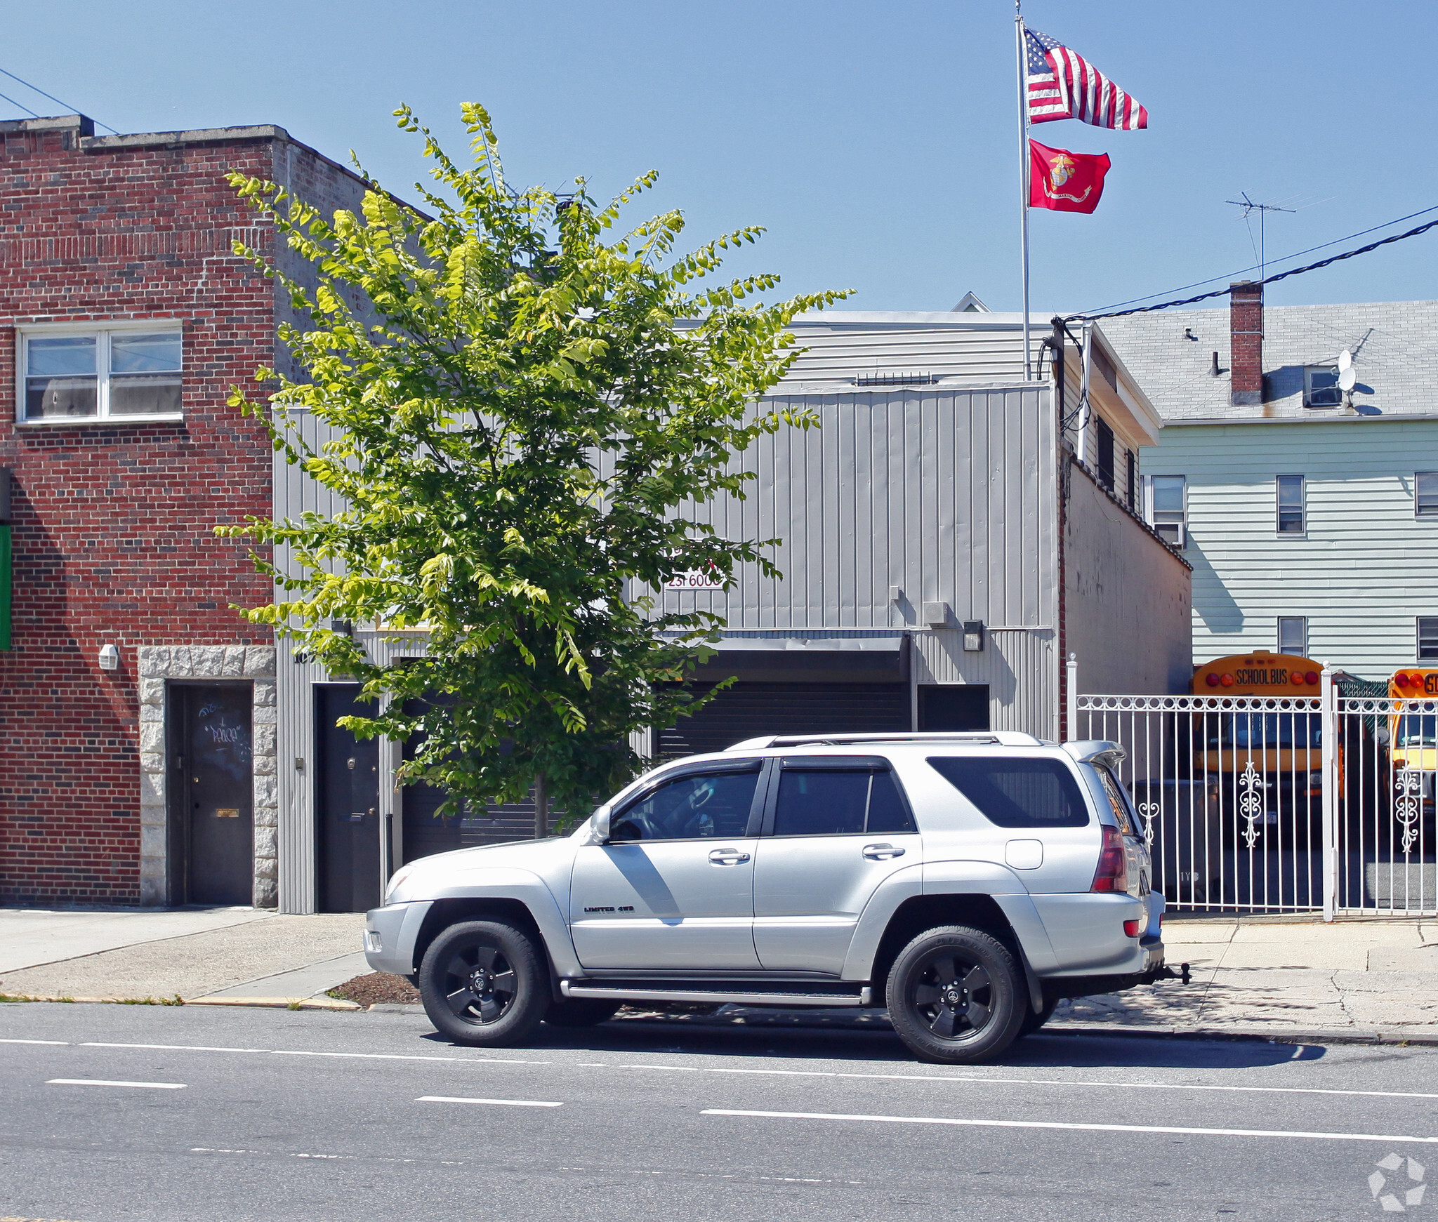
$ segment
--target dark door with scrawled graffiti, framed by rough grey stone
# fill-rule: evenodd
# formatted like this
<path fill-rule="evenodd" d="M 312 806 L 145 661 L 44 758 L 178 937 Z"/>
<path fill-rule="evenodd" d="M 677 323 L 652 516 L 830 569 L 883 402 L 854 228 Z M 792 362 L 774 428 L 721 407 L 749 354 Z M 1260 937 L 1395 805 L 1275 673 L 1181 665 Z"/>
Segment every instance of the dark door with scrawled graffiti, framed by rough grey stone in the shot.
<path fill-rule="evenodd" d="M 252 704 L 247 683 L 170 689 L 173 903 L 253 901 Z"/>

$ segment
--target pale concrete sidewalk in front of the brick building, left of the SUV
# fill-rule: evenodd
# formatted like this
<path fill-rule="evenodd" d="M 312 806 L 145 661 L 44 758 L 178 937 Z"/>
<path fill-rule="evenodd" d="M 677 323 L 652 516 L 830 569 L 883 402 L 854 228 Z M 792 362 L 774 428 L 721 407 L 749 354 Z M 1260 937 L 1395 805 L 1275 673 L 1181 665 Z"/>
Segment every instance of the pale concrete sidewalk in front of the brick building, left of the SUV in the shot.
<path fill-rule="evenodd" d="M 6 909 L 0 993 L 283 1005 L 368 972 L 362 930 L 364 913 Z"/>

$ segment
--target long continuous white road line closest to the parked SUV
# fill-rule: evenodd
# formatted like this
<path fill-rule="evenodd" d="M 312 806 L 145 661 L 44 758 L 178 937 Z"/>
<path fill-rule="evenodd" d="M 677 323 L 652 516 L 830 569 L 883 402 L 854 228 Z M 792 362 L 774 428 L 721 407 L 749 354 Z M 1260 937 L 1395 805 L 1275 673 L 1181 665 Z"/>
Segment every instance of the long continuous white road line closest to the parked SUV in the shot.
<path fill-rule="evenodd" d="M 63 1039 L 0 1039 L 0 1044 L 55 1044 L 69 1047 Z M 1080 1078 L 1004 1078 L 979 1074 L 861 1074 L 835 1070 L 751 1070 L 725 1065 L 615 1065 L 603 1061 L 518 1061 L 499 1057 L 424 1057 L 404 1052 L 316 1052 L 301 1048 L 214 1048 L 203 1044 L 108 1044 L 86 1041 L 79 1048 L 141 1048 L 173 1052 L 250 1052 L 262 1057 L 341 1057 L 360 1061 L 437 1061 L 459 1065 L 558 1065 L 559 1068 L 592 1070 L 656 1070 L 660 1072 L 684 1074 L 749 1074 L 754 1077 L 784 1078 L 857 1078 L 866 1081 L 899 1083 L 971 1083 L 999 1087 L 1089 1087 L 1097 1090 L 1172 1090 L 1172 1091 L 1227 1091 L 1238 1094 L 1326 1094 L 1362 1098 L 1438 1098 L 1432 1091 L 1382 1091 L 1340 1090 L 1336 1087 L 1240 1087 L 1198 1083 L 1119 1083 L 1089 1081 Z"/>

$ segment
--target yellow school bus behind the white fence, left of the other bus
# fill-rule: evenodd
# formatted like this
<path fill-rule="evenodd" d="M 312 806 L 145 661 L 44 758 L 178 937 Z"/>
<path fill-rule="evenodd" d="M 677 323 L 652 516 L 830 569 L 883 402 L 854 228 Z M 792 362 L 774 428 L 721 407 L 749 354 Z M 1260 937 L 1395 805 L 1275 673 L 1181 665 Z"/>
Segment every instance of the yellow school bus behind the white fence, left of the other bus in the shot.
<path fill-rule="evenodd" d="M 1277 707 L 1278 697 L 1317 697 L 1322 671 L 1323 664 L 1313 658 L 1268 650 L 1221 657 L 1194 670 L 1189 690 L 1195 696 L 1267 696 L 1274 702 L 1274 707 L 1194 715 L 1195 769 L 1252 798 L 1261 791 L 1268 825 L 1277 824 L 1280 812 L 1322 814 L 1323 717 L 1316 704 L 1311 710 Z M 1342 768 L 1340 752 L 1340 778 Z"/>

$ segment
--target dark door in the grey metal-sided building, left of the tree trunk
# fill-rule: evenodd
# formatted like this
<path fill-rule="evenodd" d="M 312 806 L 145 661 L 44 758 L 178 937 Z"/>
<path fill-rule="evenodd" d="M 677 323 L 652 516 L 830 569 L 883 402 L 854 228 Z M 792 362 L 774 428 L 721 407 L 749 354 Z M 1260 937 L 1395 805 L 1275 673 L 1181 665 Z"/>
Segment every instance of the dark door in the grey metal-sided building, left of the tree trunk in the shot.
<path fill-rule="evenodd" d="M 380 904 L 380 740 L 360 742 L 335 725 L 368 717 L 354 684 L 315 687 L 316 848 L 319 910 L 362 913 Z"/>

